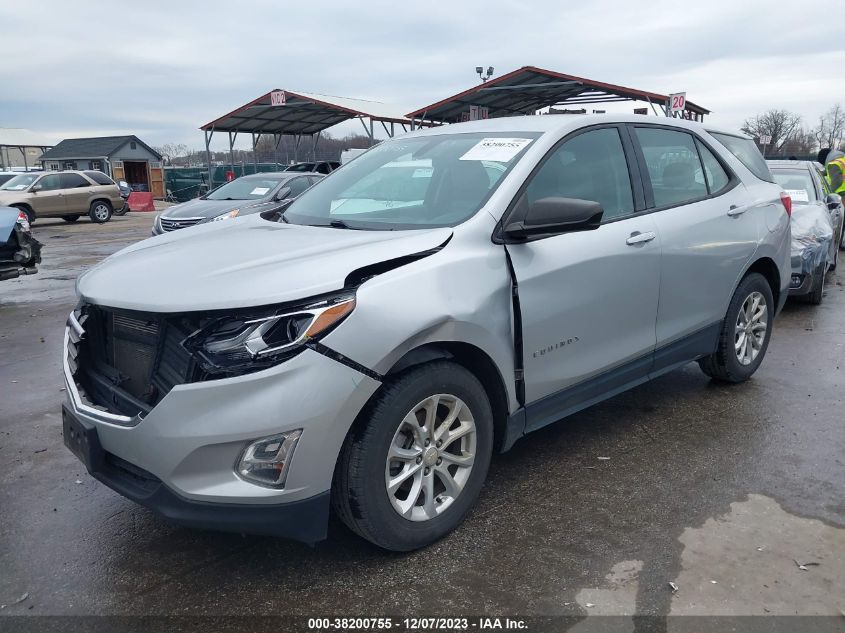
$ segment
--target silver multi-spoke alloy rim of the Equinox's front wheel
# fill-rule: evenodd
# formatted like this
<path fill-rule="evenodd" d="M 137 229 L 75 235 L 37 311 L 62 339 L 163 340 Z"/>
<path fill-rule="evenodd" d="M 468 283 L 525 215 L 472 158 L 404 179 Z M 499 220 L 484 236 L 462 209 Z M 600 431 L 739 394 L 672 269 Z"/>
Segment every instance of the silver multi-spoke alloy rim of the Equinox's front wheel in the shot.
<path fill-rule="evenodd" d="M 388 449 L 385 486 L 402 517 L 428 521 L 466 485 L 476 452 L 475 419 L 457 396 L 435 394 L 402 419 Z"/>

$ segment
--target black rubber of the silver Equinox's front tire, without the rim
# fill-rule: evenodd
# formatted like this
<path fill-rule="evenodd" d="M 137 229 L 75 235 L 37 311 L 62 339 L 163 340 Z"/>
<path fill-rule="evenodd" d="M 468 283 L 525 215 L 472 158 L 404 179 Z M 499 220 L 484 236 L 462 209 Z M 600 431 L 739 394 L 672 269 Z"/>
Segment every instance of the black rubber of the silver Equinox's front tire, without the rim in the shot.
<path fill-rule="evenodd" d="M 436 394 L 457 396 L 469 408 L 475 421 L 475 459 L 463 489 L 442 514 L 412 521 L 394 509 L 388 496 L 387 451 L 403 418 Z M 334 510 L 352 531 L 379 547 L 398 552 L 424 547 L 464 520 L 487 477 L 492 452 L 493 412 L 478 379 L 446 361 L 411 368 L 385 382 L 347 436 L 335 468 Z"/>

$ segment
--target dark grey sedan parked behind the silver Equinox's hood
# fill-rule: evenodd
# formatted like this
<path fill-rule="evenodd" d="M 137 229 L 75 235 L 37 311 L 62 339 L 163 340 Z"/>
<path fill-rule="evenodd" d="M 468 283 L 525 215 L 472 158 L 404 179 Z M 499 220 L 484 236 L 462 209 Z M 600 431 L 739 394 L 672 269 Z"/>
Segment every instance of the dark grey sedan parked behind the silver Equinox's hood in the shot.
<path fill-rule="evenodd" d="M 322 178 L 322 174 L 309 172 L 241 176 L 204 196 L 175 204 L 160 213 L 153 223 L 153 235 L 272 210 L 280 202 L 296 198 Z"/>

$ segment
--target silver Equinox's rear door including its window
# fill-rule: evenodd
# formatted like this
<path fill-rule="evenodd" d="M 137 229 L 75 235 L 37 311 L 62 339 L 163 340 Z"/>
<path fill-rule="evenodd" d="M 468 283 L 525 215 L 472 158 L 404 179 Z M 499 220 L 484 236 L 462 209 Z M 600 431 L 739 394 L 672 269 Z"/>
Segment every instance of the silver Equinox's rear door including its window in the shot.
<path fill-rule="evenodd" d="M 765 227 L 740 180 L 701 138 L 677 128 L 633 127 L 662 247 L 659 371 L 713 351 L 734 287 Z"/>

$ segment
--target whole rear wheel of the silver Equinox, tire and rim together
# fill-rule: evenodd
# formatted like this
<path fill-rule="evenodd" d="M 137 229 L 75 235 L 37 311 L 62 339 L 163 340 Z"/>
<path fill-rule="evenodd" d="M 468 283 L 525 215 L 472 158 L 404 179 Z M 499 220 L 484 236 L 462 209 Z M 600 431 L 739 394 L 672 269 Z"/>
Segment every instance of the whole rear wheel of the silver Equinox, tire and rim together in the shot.
<path fill-rule="evenodd" d="M 753 307 L 755 298 L 761 298 L 765 302 L 765 312 L 759 320 L 754 318 L 758 314 L 757 311 L 752 314 L 751 323 L 748 325 L 750 329 L 745 330 L 745 338 L 742 339 L 741 332 L 737 331 L 740 327 L 740 312 L 743 315 L 747 314 L 746 308 Z M 746 302 L 750 303 L 747 304 Z M 774 311 L 775 303 L 772 297 L 772 289 L 766 278 L 759 273 L 746 275 L 731 298 L 728 312 L 719 333 L 716 351 L 698 361 L 701 371 L 721 382 L 739 383 L 751 378 L 760 363 L 763 362 L 766 350 L 769 347 Z M 765 325 L 762 338 L 759 337 L 760 324 Z M 755 331 L 756 334 L 754 334 Z M 736 344 L 742 340 L 746 341 L 746 345 L 750 344 L 752 349 L 748 350 L 746 346 L 737 350 Z M 755 341 L 757 346 L 754 345 Z M 743 351 L 745 353 L 741 354 Z M 740 360 L 740 355 L 743 356 L 743 360 Z"/>

